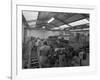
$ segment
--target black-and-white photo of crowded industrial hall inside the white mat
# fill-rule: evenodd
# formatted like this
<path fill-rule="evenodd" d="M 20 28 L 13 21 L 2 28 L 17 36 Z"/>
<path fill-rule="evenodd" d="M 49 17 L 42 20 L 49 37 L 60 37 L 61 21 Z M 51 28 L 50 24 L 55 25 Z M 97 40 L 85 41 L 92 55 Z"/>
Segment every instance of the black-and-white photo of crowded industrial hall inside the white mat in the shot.
<path fill-rule="evenodd" d="M 89 14 L 22 11 L 22 68 L 89 66 Z"/>

